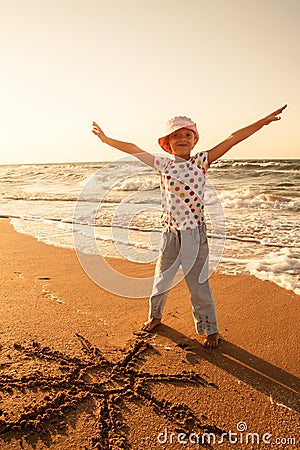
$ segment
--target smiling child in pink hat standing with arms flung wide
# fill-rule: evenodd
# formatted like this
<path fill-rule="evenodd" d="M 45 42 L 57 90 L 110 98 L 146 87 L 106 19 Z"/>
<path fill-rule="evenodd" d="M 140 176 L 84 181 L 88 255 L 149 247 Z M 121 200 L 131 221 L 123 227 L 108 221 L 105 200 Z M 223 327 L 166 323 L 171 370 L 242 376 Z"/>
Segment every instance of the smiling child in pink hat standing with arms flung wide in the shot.
<path fill-rule="evenodd" d="M 159 138 L 161 148 L 173 158 L 154 156 L 134 144 L 107 137 L 93 122 L 93 133 L 102 142 L 154 167 L 161 178 L 162 248 L 156 263 L 150 297 L 148 321 L 143 329 L 153 330 L 160 322 L 169 290 L 182 266 L 191 293 L 196 332 L 206 334 L 204 345 L 219 344 L 215 302 L 208 282 L 208 245 L 204 220 L 204 187 L 209 165 L 234 145 L 248 138 L 264 125 L 280 119 L 287 105 L 257 122 L 246 126 L 211 150 L 191 156 L 199 140 L 196 124 L 187 117 L 175 117 L 167 123 L 165 135 Z"/>

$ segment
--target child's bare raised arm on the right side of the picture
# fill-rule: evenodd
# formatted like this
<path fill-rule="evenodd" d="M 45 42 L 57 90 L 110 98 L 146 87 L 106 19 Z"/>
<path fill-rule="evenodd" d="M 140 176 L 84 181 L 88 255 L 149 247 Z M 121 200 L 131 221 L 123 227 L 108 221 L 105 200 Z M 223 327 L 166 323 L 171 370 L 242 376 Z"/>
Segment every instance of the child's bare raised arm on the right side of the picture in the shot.
<path fill-rule="evenodd" d="M 212 148 L 208 151 L 208 164 L 216 161 L 216 159 L 223 156 L 228 150 L 230 150 L 234 145 L 239 142 L 247 139 L 252 134 L 256 133 L 256 131 L 260 130 L 264 125 L 269 125 L 269 123 L 274 122 L 276 120 L 280 120 L 281 117 L 278 117 L 279 114 L 287 107 L 287 105 L 282 108 L 277 109 L 273 113 L 264 117 L 263 119 L 258 120 L 257 122 L 248 125 L 245 128 L 241 128 L 238 131 L 232 133 L 225 141 L 218 144 L 216 147 Z"/>

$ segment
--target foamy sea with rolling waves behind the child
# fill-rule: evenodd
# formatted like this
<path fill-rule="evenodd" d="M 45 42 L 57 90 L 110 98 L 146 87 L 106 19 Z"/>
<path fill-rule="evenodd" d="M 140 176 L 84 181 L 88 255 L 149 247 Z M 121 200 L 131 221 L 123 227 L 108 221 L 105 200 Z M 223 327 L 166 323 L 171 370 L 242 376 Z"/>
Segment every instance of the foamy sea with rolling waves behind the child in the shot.
<path fill-rule="evenodd" d="M 300 294 L 300 160 L 223 160 L 207 172 L 210 273 L 251 274 Z M 155 262 L 160 180 L 130 157 L 0 166 L 0 217 L 86 254 Z"/>

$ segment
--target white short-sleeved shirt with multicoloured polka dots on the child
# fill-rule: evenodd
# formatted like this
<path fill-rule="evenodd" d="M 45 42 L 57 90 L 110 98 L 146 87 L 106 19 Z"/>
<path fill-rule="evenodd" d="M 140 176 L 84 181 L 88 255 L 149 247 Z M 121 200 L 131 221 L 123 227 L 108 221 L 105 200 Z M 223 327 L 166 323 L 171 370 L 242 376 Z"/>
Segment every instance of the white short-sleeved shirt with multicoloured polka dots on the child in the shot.
<path fill-rule="evenodd" d="M 191 230 L 204 224 L 207 168 L 207 152 L 197 153 L 180 162 L 155 157 L 154 169 L 160 175 L 164 227 Z"/>

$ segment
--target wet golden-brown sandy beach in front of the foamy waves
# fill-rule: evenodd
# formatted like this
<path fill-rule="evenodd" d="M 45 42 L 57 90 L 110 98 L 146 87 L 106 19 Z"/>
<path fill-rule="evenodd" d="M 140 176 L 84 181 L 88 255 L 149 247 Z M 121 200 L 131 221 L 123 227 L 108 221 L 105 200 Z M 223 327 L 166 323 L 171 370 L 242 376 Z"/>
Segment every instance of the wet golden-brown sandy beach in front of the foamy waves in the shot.
<path fill-rule="evenodd" d="M 7 220 L 0 239 L 1 450 L 250 449 L 258 440 L 259 448 L 299 448 L 292 291 L 214 274 L 222 342 L 210 351 L 195 333 L 184 282 L 147 334 L 147 298 L 101 289 L 74 251 L 18 234 Z M 137 277 L 154 271 L 110 264 Z"/>

